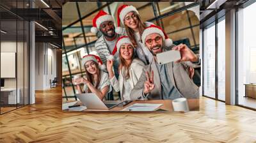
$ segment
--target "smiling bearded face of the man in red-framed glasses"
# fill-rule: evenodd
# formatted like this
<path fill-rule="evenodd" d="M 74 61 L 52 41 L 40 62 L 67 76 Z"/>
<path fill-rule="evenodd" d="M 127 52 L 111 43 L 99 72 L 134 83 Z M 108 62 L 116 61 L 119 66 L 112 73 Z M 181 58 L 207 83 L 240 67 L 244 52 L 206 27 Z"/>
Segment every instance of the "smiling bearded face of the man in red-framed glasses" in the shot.
<path fill-rule="evenodd" d="M 163 47 L 163 39 L 160 34 L 153 33 L 149 34 L 145 38 L 145 45 L 148 47 L 153 56 L 162 52 Z"/>

